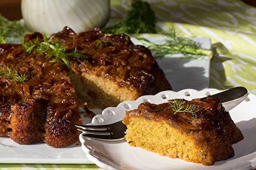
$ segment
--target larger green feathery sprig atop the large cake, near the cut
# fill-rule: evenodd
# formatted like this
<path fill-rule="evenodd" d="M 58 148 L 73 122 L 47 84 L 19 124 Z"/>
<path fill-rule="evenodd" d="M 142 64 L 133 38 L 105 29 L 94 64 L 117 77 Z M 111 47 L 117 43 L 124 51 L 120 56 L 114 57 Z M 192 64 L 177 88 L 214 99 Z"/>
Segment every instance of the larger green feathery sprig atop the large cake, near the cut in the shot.
<path fill-rule="evenodd" d="M 67 53 L 64 46 L 58 42 L 52 42 L 52 39 L 53 37 L 47 38 L 47 35 L 44 34 L 42 41 L 39 41 L 39 39 L 36 38 L 29 42 L 23 42 L 23 46 L 27 53 L 34 51 L 38 54 L 45 54 L 46 58 L 53 58 L 51 62 L 57 62 L 61 60 L 66 64 L 68 68 L 71 66 L 67 56 L 73 57 L 76 60 L 80 58 L 88 58 L 88 56 L 79 53 L 76 48 L 73 52 Z"/>

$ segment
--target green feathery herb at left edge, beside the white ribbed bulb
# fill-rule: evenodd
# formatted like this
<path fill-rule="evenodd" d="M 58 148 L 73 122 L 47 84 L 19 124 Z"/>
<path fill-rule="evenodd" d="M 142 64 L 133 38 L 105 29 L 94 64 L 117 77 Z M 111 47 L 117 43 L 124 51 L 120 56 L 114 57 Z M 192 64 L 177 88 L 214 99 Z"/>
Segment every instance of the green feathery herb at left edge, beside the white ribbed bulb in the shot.
<path fill-rule="evenodd" d="M 25 34 L 25 27 L 20 21 L 9 21 L 0 15 L 0 43 L 10 43 L 10 37 L 19 37 Z"/>

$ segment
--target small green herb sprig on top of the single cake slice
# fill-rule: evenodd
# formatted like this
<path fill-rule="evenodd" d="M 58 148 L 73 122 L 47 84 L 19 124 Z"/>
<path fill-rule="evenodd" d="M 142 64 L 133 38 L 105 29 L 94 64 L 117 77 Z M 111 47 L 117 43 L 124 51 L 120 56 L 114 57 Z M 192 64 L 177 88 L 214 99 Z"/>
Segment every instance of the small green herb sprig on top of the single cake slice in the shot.
<path fill-rule="evenodd" d="M 195 104 L 187 104 L 183 99 L 178 100 L 172 100 L 169 102 L 170 106 L 172 106 L 172 109 L 174 111 L 173 114 L 179 113 L 179 112 L 186 112 L 191 113 L 194 118 L 197 118 L 197 112 L 200 110 L 199 107 L 197 107 Z"/>

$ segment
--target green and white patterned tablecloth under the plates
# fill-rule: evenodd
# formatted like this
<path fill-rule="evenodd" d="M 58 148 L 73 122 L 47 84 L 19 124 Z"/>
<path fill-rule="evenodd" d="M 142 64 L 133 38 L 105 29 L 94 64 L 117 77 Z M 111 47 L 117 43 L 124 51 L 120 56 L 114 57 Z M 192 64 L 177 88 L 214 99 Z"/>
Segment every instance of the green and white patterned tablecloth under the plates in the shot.
<path fill-rule="evenodd" d="M 175 27 L 186 37 L 209 37 L 216 48 L 210 66 L 210 88 L 245 86 L 256 94 L 256 8 L 238 0 L 149 1 L 157 26 Z M 111 1 L 111 20 L 125 17 L 127 1 Z M 217 53 L 216 53 L 217 54 Z M 1 152 L 1 151 L 0 151 Z M 7 169 L 98 169 L 84 164 L 0 164 Z"/>

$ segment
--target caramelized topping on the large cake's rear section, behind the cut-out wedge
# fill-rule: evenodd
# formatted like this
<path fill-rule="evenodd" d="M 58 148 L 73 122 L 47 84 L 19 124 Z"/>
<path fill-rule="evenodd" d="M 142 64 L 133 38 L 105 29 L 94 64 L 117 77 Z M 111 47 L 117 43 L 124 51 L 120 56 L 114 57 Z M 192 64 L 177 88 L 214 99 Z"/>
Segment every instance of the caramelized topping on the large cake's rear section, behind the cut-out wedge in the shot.
<path fill-rule="evenodd" d="M 65 28 L 54 34 L 52 41 L 65 46 L 68 52 L 77 50 L 88 56 L 86 59 L 79 58 L 79 65 L 77 60 L 69 58 L 71 69 L 76 72 L 109 78 L 119 86 L 132 86 L 146 94 L 151 94 L 161 84 L 155 80 L 163 72 L 150 50 L 134 45 L 124 34 L 106 36 L 99 29 L 76 34 Z M 165 78 L 163 81 L 166 81 Z"/>

